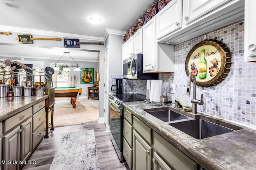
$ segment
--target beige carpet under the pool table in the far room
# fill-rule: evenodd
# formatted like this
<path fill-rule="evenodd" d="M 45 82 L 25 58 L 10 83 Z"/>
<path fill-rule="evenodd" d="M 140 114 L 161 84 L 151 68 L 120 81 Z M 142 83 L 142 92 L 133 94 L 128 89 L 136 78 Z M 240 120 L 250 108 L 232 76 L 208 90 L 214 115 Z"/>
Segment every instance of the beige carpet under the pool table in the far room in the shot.
<path fill-rule="evenodd" d="M 54 126 L 79 125 L 97 122 L 99 118 L 99 100 L 78 99 L 73 109 L 68 98 L 56 98 L 54 105 Z"/>

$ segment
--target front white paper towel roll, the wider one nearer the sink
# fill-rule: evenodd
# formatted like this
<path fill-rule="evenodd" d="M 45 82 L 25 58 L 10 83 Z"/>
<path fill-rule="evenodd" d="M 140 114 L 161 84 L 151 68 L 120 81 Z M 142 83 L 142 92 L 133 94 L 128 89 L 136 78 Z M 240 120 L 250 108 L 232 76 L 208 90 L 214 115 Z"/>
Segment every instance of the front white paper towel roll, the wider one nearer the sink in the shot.
<path fill-rule="evenodd" d="M 162 92 L 162 80 L 151 80 L 150 102 L 160 102 Z"/>

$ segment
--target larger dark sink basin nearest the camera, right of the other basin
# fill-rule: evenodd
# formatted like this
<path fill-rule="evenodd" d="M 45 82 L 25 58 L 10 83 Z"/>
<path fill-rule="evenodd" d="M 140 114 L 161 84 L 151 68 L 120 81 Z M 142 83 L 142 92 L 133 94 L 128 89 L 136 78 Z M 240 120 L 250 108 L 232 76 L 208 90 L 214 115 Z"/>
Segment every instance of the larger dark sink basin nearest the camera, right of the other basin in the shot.
<path fill-rule="evenodd" d="M 234 131 L 233 129 L 203 119 L 180 121 L 177 123 L 169 123 L 169 125 L 196 139 L 204 139 Z"/>

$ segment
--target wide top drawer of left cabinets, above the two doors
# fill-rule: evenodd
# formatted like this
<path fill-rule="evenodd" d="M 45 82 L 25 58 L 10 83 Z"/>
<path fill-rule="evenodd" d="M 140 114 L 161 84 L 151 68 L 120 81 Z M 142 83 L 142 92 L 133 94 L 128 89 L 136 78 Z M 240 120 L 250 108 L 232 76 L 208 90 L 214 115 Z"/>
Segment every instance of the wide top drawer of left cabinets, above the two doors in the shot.
<path fill-rule="evenodd" d="M 26 120 L 28 117 L 32 115 L 32 107 L 29 107 L 28 109 L 6 119 L 3 122 L 3 133 L 6 133 L 16 125 L 22 123 L 24 120 Z"/>

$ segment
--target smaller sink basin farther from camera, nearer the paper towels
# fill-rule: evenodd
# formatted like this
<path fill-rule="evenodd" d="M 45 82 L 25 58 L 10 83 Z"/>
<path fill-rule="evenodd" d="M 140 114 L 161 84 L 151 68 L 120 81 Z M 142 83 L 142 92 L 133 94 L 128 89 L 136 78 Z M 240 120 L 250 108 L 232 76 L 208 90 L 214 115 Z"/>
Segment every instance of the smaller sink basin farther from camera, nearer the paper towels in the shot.
<path fill-rule="evenodd" d="M 172 110 L 164 109 L 164 110 L 154 110 L 154 109 L 145 109 L 144 111 L 148 112 L 149 114 L 153 115 L 154 117 L 164 121 L 176 121 L 181 119 L 188 119 L 189 117 L 176 113 Z"/>

